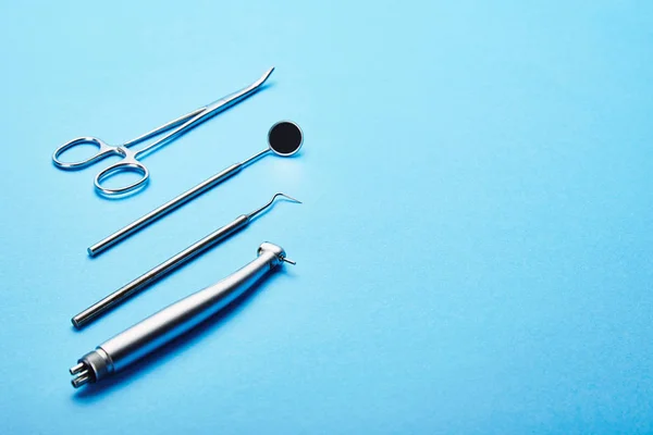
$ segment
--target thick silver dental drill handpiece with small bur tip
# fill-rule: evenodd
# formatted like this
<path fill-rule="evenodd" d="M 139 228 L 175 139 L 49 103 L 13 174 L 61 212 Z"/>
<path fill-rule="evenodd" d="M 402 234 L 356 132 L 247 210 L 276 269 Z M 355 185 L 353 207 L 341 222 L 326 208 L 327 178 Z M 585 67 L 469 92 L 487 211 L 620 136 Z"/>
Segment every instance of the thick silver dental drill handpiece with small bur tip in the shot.
<path fill-rule="evenodd" d="M 102 381 L 192 330 L 243 295 L 285 258 L 282 247 L 264 243 L 258 258 L 210 287 L 150 315 L 77 360 L 70 372 L 75 388 Z"/>

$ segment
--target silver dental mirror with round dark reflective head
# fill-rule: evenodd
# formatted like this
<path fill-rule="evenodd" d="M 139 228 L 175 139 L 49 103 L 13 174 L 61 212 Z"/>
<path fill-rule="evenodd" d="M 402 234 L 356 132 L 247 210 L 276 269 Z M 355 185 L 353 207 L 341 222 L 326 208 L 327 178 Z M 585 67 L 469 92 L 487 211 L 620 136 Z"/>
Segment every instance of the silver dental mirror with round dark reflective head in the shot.
<path fill-rule="evenodd" d="M 301 148 L 303 141 L 304 135 L 301 133 L 301 128 L 299 128 L 297 124 L 291 121 L 278 122 L 268 132 L 268 148 L 251 156 L 249 159 L 241 163 L 232 164 L 224 171 L 221 171 L 218 174 L 205 179 L 200 184 L 189 188 L 185 192 L 156 208 L 149 213 L 138 217 L 136 221 L 122 227 L 112 235 L 104 237 L 97 244 L 86 249 L 86 251 L 90 257 L 99 254 L 100 252 L 111 248 L 113 245 L 116 245 L 121 240 L 130 237 L 132 234 L 148 226 L 158 219 L 163 217 L 165 214 L 182 207 L 194 198 L 197 198 L 201 194 L 212 189 L 225 179 L 234 176 L 245 166 L 268 154 L 270 151 L 281 157 L 294 156 L 297 151 L 299 151 L 299 148 Z"/>

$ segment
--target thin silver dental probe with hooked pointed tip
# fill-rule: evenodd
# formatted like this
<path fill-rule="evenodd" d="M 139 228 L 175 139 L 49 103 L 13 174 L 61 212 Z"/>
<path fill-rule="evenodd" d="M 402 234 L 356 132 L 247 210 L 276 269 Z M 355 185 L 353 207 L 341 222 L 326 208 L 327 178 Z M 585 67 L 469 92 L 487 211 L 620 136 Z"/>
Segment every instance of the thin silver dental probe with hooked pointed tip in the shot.
<path fill-rule="evenodd" d="M 283 197 L 293 202 L 301 203 L 301 201 L 299 201 L 293 197 L 289 197 L 285 194 L 280 192 L 280 194 L 274 195 L 272 197 L 272 199 L 263 207 L 252 211 L 249 214 L 239 215 L 233 222 L 214 231 L 213 233 L 209 234 L 201 240 L 196 241 L 195 244 L 190 245 L 183 251 L 169 258 L 161 264 L 157 265 L 156 268 L 151 269 L 150 271 L 138 276 L 136 279 L 132 281 L 131 283 L 126 284 L 125 286 L 113 291 L 111 295 L 104 297 L 100 301 L 88 307 L 86 310 L 82 311 L 81 313 L 75 315 L 73 319 L 71 319 L 71 322 L 73 322 L 73 326 L 75 326 L 76 328 L 82 328 L 84 325 L 86 325 L 86 324 L 93 322 L 95 319 L 97 319 L 100 314 L 114 308 L 115 306 L 118 306 L 119 303 L 121 303 L 122 301 L 124 301 L 125 299 L 131 297 L 132 295 L 136 294 L 137 291 L 147 287 L 149 284 L 159 279 L 161 276 L 165 275 L 167 273 L 173 271 L 177 266 L 180 266 L 180 265 L 184 264 L 185 262 L 187 262 L 188 260 L 193 259 L 198 253 L 206 251 L 207 249 L 215 246 L 218 243 L 224 240 L 226 237 L 231 236 L 232 234 L 236 233 L 237 231 L 243 229 L 245 226 L 247 226 L 254 220 L 254 217 L 256 217 L 259 213 L 263 212 L 266 209 L 268 209 L 270 206 L 272 206 L 272 203 L 274 202 L 274 200 L 278 197 Z"/>

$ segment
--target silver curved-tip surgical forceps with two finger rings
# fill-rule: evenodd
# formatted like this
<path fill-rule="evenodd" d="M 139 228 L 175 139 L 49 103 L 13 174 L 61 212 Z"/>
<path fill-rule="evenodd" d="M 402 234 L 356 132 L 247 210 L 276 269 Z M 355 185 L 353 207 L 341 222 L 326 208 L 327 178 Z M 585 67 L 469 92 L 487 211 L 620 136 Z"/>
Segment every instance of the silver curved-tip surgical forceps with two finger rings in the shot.
<path fill-rule="evenodd" d="M 217 115 L 225 109 L 231 108 L 234 104 L 243 101 L 247 97 L 255 94 L 260 87 L 266 83 L 270 74 L 274 71 L 274 67 L 268 70 L 258 80 L 252 83 L 251 85 L 243 88 L 234 94 L 231 94 L 226 97 L 221 98 L 218 101 L 214 101 L 208 105 L 196 109 L 193 112 L 186 113 L 183 116 L 177 117 L 176 120 L 172 120 L 160 127 L 152 129 L 141 136 L 138 136 L 135 139 L 128 140 L 120 146 L 111 146 L 98 139 L 97 137 L 78 137 L 66 144 L 63 144 L 61 147 L 57 148 L 54 153 L 52 154 L 52 162 L 54 165 L 62 170 L 79 170 L 86 166 L 94 164 L 102 159 L 108 158 L 109 156 L 119 156 L 122 160 L 118 163 L 110 165 L 109 167 L 100 171 L 95 177 L 95 187 L 98 191 L 104 195 L 119 195 L 125 194 L 127 191 L 134 190 L 139 187 L 145 187 L 146 182 L 149 179 L 149 171 L 143 163 L 138 161 L 139 158 L 145 157 L 147 153 L 153 151 L 156 148 L 172 141 L 180 137 L 182 134 L 187 130 L 196 127 L 204 121 L 209 120 L 210 117 Z M 165 132 L 169 132 L 165 136 L 157 139 L 156 141 L 149 144 L 148 146 L 134 151 L 131 149 L 136 144 L 143 142 L 152 137 L 159 136 Z M 63 162 L 60 160 L 60 157 L 66 150 L 70 150 L 79 145 L 94 145 L 98 147 L 98 152 L 86 160 L 81 160 L 77 162 Z M 122 172 L 134 172 L 140 174 L 140 179 L 135 183 L 132 183 L 127 186 L 111 188 L 107 186 L 102 186 L 102 182 L 111 176 L 122 173 Z"/>

